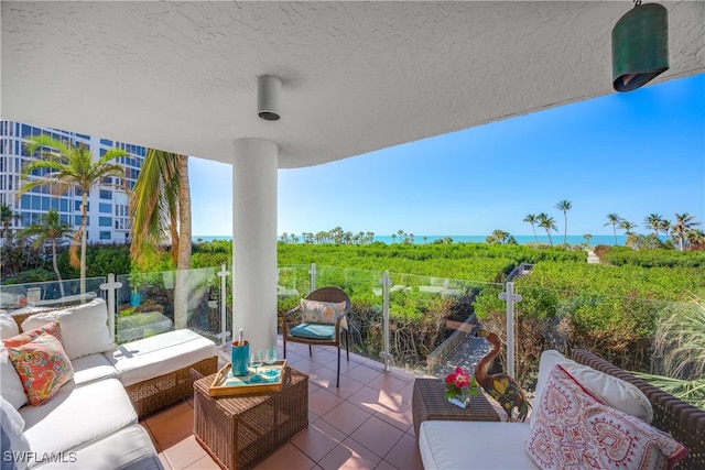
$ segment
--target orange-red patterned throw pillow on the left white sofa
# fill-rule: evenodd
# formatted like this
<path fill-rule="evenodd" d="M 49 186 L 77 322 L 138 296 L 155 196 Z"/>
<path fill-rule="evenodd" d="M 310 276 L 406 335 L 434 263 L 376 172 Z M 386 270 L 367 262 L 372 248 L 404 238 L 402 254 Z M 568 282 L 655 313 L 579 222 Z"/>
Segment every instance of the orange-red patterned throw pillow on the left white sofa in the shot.
<path fill-rule="evenodd" d="M 62 343 L 48 334 L 24 345 L 8 347 L 8 356 L 34 406 L 48 402 L 74 376 L 74 368 Z"/>

